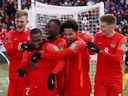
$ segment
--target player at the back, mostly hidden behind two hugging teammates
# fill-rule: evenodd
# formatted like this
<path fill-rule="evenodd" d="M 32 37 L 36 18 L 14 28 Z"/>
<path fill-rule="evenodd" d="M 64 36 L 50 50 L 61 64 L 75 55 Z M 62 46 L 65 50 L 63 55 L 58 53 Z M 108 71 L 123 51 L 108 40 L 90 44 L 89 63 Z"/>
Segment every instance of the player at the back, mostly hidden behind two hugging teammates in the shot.
<path fill-rule="evenodd" d="M 48 24 L 48 41 L 54 45 L 56 45 L 59 50 L 63 50 L 66 47 L 66 41 L 62 38 L 62 34 L 60 32 L 61 23 L 58 19 L 51 19 Z M 62 91 L 64 87 L 64 61 L 59 60 L 61 64 L 57 64 L 56 68 L 54 69 L 54 74 L 56 74 L 57 79 L 57 90 L 59 96 L 62 96 Z M 57 70 L 60 71 L 57 71 Z"/>

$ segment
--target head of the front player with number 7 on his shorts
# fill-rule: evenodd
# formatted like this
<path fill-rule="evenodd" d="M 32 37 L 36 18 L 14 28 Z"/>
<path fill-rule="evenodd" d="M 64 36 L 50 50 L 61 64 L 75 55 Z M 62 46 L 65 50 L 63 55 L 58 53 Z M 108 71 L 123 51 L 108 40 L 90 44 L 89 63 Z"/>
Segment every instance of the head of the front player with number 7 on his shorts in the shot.
<path fill-rule="evenodd" d="M 34 28 L 30 32 L 30 43 L 35 45 L 36 48 L 39 48 L 42 44 L 42 32 L 38 28 Z"/>

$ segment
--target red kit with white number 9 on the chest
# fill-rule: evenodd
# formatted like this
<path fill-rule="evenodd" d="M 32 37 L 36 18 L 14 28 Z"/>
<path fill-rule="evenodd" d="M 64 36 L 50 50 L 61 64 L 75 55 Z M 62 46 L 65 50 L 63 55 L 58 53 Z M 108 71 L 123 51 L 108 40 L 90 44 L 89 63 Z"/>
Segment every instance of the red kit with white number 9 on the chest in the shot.
<path fill-rule="evenodd" d="M 98 53 L 95 77 L 95 96 L 119 96 L 122 92 L 122 42 L 125 38 L 120 33 L 106 37 L 97 33 L 95 43 L 102 52 Z"/>

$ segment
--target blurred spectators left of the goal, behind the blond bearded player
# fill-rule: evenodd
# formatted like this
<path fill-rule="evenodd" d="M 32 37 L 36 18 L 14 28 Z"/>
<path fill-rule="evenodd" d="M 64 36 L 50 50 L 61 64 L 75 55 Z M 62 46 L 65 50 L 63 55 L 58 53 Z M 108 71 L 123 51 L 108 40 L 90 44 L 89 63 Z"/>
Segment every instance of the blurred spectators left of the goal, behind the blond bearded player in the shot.
<path fill-rule="evenodd" d="M 21 0 L 22 9 L 31 5 L 31 0 Z M 18 9 L 17 0 L 0 0 L 0 30 L 15 28 L 15 14 Z"/>

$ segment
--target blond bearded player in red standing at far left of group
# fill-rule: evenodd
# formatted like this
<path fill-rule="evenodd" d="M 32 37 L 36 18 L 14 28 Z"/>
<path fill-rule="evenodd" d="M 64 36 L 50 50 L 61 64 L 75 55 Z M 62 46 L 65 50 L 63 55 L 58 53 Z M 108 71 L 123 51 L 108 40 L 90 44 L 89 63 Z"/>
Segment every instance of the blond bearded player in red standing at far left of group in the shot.
<path fill-rule="evenodd" d="M 8 96 L 22 96 L 24 79 L 16 75 L 16 70 L 21 62 L 22 52 L 18 50 L 19 43 L 28 40 L 29 30 L 26 30 L 28 13 L 20 10 L 16 13 L 16 29 L 8 32 L 5 47 L 9 56 L 9 87 Z"/>

